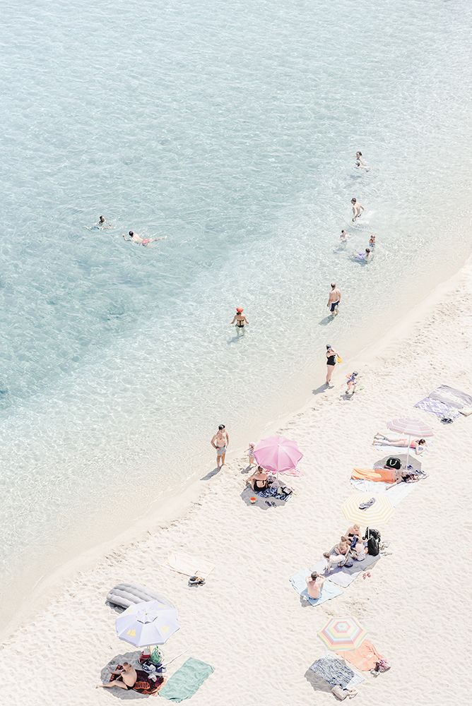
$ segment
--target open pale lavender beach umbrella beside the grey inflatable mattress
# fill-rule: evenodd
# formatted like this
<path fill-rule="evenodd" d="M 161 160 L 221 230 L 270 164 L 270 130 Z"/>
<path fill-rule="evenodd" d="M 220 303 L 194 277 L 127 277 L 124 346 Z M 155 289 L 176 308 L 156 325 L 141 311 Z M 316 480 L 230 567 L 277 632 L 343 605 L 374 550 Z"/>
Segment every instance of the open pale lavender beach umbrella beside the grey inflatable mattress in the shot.
<path fill-rule="evenodd" d="M 160 601 L 129 606 L 114 625 L 120 640 L 135 647 L 163 645 L 180 628 L 175 608 Z"/>

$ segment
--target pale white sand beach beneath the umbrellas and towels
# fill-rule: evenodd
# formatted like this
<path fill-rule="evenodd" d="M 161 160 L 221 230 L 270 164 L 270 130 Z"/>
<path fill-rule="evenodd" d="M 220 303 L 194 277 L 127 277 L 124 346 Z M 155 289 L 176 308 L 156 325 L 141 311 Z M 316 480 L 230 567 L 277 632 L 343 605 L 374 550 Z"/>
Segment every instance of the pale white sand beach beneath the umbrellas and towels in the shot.
<path fill-rule="evenodd" d="M 333 616 L 358 618 L 391 664 L 378 678 L 364 674 L 355 703 L 470 702 L 464 667 L 472 417 L 441 424 L 413 405 L 441 384 L 471 393 L 471 304 L 468 263 L 377 347 L 338 366 L 334 388 L 312 395 L 285 421 L 278 431 L 305 454 L 302 476 L 287 479 L 295 494 L 285 505 L 244 503 L 247 460 L 232 459 L 201 483 L 198 500 L 178 520 L 149 520 L 144 536 L 54 587 L 47 606 L 4 639 L 1 704 L 100 706 L 144 698 L 95 689 L 110 660 L 138 652 L 117 639 L 117 613 L 105 604 L 110 587 L 124 580 L 151 587 L 177 606 L 182 630 L 163 652 L 178 652 L 182 644 L 187 652 L 172 662 L 169 675 L 186 657 L 214 667 L 194 706 L 334 704 L 327 684 L 308 671 L 325 651 L 317 631 Z M 346 400 L 343 383 L 353 369 L 362 389 Z M 314 380 L 314 388 L 323 379 Z M 421 458 L 429 477 L 396 506 L 382 532 L 391 554 L 341 596 L 316 607 L 302 604 L 290 576 L 311 567 L 345 532 L 350 523 L 341 505 L 353 491 L 351 469 L 372 467 L 384 455 L 372 437 L 399 416 L 423 419 L 435 436 Z M 179 551 L 215 565 L 204 587 L 190 588 L 183 575 L 163 566 Z"/>

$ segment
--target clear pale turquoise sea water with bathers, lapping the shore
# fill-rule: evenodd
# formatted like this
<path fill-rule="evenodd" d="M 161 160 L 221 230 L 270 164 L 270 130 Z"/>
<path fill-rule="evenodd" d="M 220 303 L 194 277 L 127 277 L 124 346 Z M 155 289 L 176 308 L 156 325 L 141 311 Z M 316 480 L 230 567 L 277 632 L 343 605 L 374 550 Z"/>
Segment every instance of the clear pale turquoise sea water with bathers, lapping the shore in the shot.
<path fill-rule="evenodd" d="M 354 352 L 460 265 L 471 32 L 465 0 L 4 0 L 4 605 L 211 469 L 219 423 L 256 440 L 319 385 L 326 342 Z M 87 228 L 100 214 L 114 229 Z"/>

